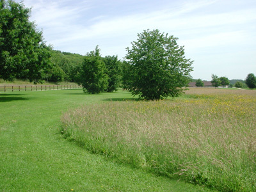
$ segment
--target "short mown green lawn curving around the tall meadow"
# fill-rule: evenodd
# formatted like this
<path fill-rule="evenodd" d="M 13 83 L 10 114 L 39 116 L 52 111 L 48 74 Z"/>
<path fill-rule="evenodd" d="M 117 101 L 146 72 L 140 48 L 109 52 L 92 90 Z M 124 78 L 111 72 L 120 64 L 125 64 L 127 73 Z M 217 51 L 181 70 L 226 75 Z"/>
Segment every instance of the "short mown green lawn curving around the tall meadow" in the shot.
<path fill-rule="evenodd" d="M 91 154 L 60 134 L 60 116 L 127 92 L 0 93 L 0 191 L 210 191 Z"/>

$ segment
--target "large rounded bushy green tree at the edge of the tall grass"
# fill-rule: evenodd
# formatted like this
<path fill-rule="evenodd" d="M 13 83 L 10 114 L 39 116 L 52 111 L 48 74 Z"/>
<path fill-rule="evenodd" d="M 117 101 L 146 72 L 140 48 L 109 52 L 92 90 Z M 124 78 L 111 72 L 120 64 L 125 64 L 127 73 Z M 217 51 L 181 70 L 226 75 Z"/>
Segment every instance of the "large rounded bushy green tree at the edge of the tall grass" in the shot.
<path fill-rule="evenodd" d="M 159 100 L 182 94 L 189 83 L 193 61 L 186 59 L 178 38 L 160 33 L 158 29 L 138 34 L 138 41 L 127 47 L 125 88 L 132 95 Z M 128 67 L 128 68 L 127 68 Z"/>

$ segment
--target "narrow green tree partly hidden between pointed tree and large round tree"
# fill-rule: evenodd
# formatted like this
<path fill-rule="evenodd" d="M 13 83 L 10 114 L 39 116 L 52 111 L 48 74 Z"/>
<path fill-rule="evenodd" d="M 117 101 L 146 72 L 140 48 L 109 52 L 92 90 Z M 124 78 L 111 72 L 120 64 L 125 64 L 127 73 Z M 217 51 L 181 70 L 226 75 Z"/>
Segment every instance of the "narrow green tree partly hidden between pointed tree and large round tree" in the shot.
<path fill-rule="evenodd" d="M 106 73 L 109 77 L 106 92 L 114 92 L 117 90 L 121 79 L 120 61 L 117 56 L 106 56 L 104 58 L 104 63 L 107 69 Z"/>

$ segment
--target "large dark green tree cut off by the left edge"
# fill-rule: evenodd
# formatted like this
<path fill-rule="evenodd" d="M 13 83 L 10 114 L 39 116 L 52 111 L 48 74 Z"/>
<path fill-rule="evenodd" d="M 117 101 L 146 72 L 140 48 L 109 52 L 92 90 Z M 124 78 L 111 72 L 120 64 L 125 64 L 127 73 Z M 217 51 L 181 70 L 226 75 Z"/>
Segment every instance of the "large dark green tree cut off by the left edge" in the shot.
<path fill-rule="evenodd" d="M 50 67 L 51 47 L 29 21 L 31 10 L 12 0 L 0 1 L 0 78 L 38 83 Z"/>

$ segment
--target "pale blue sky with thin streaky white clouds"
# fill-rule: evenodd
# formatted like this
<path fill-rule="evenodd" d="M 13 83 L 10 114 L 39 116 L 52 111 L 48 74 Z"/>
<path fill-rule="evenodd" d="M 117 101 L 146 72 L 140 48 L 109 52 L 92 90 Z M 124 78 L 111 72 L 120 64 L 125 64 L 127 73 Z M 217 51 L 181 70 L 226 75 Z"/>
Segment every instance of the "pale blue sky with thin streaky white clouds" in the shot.
<path fill-rule="evenodd" d="M 16 2 L 20 2 L 17 1 Z M 126 47 L 143 30 L 179 38 L 191 76 L 245 79 L 256 75 L 255 0 L 24 0 L 29 20 L 54 50 L 125 60 Z"/>

